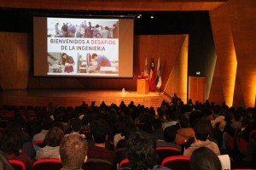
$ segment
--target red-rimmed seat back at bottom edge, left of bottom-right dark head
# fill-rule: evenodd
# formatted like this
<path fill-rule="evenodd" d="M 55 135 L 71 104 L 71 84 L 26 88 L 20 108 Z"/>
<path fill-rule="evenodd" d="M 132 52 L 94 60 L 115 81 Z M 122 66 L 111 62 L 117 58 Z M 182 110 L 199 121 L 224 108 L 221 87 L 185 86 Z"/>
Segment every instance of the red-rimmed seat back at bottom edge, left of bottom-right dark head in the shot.
<path fill-rule="evenodd" d="M 162 161 L 161 166 L 172 168 L 172 170 L 190 170 L 189 160 L 189 156 L 169 156 Z"/>

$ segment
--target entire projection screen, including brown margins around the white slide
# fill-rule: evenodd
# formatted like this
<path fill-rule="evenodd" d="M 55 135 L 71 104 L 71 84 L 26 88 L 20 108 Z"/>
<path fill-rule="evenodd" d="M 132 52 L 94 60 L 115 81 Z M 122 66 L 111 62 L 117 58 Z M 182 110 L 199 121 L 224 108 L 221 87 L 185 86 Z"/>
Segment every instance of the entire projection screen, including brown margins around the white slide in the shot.
<path fill-rule="evenodd" d="M 133 78 L 133 29 L 133 18 L 34 16 L 34 76 Z"/>

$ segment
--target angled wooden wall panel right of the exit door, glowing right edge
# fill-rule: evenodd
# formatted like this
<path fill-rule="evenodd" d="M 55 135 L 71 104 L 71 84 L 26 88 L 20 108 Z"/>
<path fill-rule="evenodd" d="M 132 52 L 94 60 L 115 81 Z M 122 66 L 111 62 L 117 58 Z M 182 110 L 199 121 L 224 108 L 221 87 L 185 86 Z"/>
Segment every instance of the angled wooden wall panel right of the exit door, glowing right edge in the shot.
<path fill-rule="evenodd" d="M 222 90 L 211 90 L 209 99 L 214 99 L 217 104 L 225 101 L 226 105 L 231 106 L 235 91 L 237 61 L 227 6 L 211 11 L 210 17 L 217 54 L 212 87 L 218 86 Z"/>

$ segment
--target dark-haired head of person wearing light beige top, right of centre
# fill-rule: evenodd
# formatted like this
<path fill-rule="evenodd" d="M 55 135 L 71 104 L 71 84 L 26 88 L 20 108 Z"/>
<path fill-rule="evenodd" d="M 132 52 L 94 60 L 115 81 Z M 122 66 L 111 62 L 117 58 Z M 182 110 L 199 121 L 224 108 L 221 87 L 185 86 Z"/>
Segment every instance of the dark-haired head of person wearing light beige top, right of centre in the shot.
<path fill-rule="evenodd" d="M 195 124 L 195 138 L 197 140 L 206 141 L 211 131 L 210 123 L 207 121 L 199 121 Z"/>

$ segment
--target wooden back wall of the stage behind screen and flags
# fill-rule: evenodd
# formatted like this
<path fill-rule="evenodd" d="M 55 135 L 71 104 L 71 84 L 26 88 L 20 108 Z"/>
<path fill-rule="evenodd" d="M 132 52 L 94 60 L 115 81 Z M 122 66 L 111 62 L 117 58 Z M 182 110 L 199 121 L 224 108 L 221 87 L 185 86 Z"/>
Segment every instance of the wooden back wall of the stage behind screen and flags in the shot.
<path fill-rule="evenodd" d="M 154 58 L 157 65 L 160 57 L 162 87 L 166 86 L 174 61 L 180 53 L 185 35 L 136 36 L 134 48 L 133 79 L 102 78 L 64 78 L 34 77 L 32 36 L 26 33 L 0 32 L 2 62 L 0 63 L 1 86 L 6 89 L 28 88 L 84 88 L 84 89 L 122 89 L 137 90 L 137 76 L 145 69 L 148 71 Z M 186 64 L 187 65 L 187 64 Z M 184 77 L 186 78 L 186 77 Z"/>

